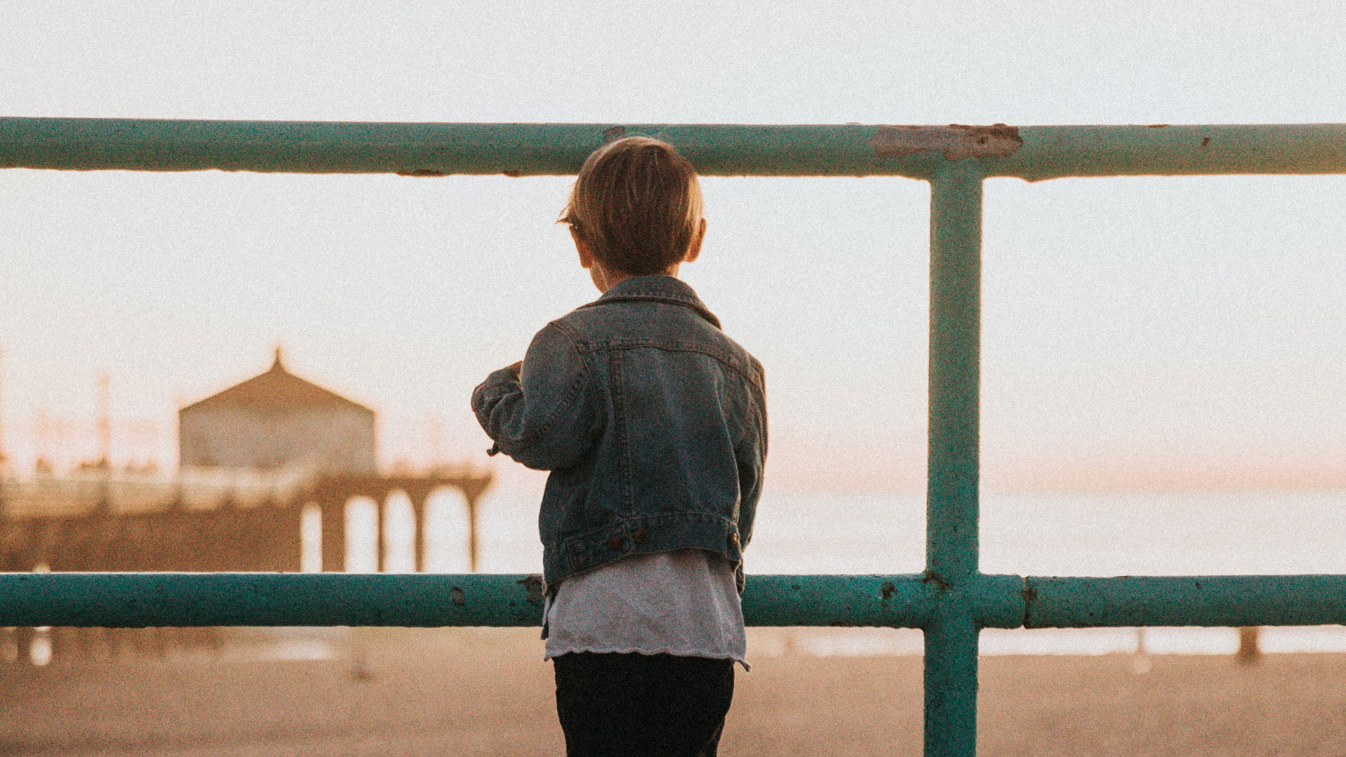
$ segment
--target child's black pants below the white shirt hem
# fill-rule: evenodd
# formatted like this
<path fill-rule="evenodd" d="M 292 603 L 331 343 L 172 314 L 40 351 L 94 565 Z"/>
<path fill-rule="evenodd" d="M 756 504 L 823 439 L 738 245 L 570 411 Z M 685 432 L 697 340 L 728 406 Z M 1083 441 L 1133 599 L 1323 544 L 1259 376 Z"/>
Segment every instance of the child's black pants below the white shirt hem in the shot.
<path fill-rule="evenodd" d="M 567 757 L 715 757 L 734 660 L 595 655 L 552 660 Z"/>

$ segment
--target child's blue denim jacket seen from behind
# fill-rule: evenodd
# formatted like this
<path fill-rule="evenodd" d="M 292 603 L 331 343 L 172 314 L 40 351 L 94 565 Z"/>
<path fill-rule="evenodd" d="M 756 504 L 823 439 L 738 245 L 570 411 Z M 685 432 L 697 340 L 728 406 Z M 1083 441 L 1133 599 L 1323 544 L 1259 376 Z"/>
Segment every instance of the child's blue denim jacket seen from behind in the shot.
<path fill-rule="evenodd" d="M 692 287 L 638 276 L 551 322 L 521 374 L 495 370 L 472 411 L 505 453 L 551 470 L 542 578 L 635 554 L 700 548 L 736 566 L 762 493 L 762 364 Z"/>

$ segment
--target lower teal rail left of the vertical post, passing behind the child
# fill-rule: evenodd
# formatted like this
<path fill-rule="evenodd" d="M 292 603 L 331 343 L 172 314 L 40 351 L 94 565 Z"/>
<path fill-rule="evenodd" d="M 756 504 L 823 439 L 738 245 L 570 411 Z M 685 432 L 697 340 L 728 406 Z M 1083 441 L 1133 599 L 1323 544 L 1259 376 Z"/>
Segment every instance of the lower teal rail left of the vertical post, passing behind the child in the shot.
<path fill-rule="evenodd" d="M 529 626 L 541 581 L 522 574 L 9 572 L 0 626 Z M 921 625 L 919 575 L 754 575 L 748 625 Z"/>

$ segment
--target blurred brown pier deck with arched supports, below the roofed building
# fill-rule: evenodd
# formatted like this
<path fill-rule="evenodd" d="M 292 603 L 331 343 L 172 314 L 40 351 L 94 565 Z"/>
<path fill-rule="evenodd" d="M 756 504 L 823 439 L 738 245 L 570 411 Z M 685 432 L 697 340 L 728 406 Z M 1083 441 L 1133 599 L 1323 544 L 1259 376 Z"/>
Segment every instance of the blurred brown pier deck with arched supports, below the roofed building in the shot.
<path fill-rule="evenodd" d="M 468 556 L 476 571 L 476 513 L 491 485 L 489 470 L 467 466 L 396 474 L 258 474 L 187 471 L 151 478 L 110 470 L 67 477 L 0 478 L 0 572 L 302 572 L 303 520 L 319 517 L 324 572 L 346 570 L 346 511 L 366 497 L 378 506 L 378 571 L 388 568 L 390 497 L 402 493 L 415 513 L 415 570 L 425 570 L 425 516 L 431 494 L 463 496 Z M 306 515 L 307 513 L 307 515 Z M 7 655 L 32 661 L 30 626 L 12 632 Z M 55 628 L 50 653 L 98 657 L 118 648 L 162 653 L 170 645 L 218 645 L 217 629 Z"/>

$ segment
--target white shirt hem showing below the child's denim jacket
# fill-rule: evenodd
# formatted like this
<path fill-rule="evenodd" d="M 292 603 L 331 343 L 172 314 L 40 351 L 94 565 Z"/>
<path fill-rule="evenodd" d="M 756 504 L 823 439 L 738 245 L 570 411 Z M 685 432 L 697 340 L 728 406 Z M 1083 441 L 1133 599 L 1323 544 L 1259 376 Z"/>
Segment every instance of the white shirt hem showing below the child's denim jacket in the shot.
<path fill-rule="evenodd" d="M 556 587 L 546 656 L 567 652 L 735 660 L 747 669 L 734 566 L 704 550 L 633 555 Z"/>

